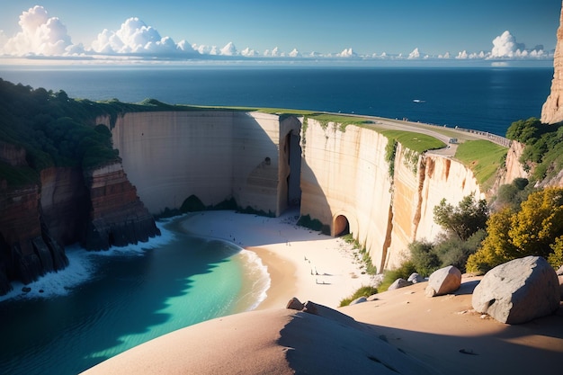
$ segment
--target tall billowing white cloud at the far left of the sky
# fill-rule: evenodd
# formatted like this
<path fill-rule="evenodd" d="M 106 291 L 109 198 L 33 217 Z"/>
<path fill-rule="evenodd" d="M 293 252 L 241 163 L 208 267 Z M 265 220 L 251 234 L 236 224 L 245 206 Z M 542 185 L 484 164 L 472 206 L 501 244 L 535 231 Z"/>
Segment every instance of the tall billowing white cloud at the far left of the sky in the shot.
<path fill-rule="evenodd" d="M 5 55 L 64 56 L 82 51 L 82 46 L 73 45 L 67 26 L 40 5 L 23 12 L 18 23 L 21 31 L 12 38 L 4 36 L 1 51 Z"/>

